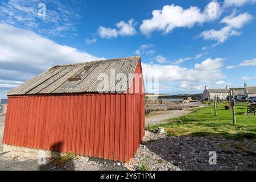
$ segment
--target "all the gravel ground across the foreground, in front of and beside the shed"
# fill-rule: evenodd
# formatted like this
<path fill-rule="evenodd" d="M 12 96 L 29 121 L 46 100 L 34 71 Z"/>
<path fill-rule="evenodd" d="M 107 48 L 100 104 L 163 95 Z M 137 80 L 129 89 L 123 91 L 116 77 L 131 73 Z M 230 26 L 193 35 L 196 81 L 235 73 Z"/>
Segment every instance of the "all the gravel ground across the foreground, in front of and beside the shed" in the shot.
<path fill-rule="evenodd" d="M 209 152 L 217 154 L 217 164 L 209 164 Z M 228 140 L 212 137 L 167 137 L 146 132 L 142 144 L 129 164 L 111 160 L 77 156 L 72 160 L 47 159 L 47 165 L 38 164 L 37 153 L 0 152 L 1 170 L 256 170 L 256 143 L 253 140 Z"/>

